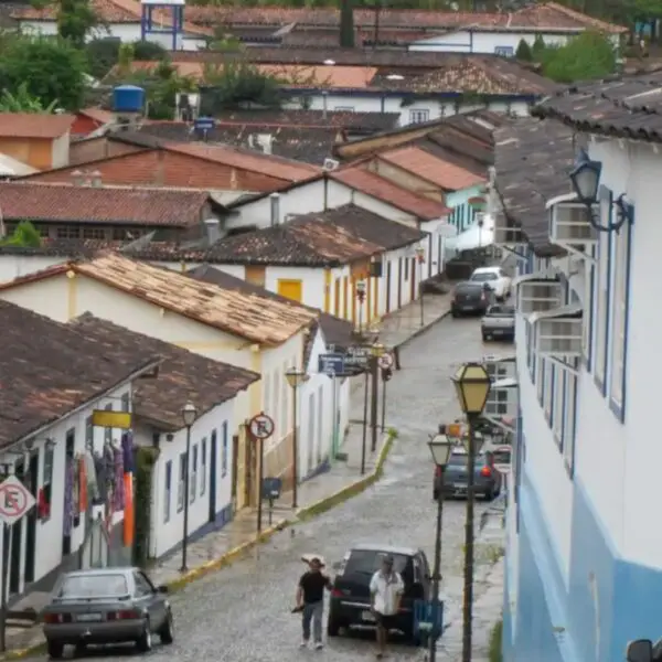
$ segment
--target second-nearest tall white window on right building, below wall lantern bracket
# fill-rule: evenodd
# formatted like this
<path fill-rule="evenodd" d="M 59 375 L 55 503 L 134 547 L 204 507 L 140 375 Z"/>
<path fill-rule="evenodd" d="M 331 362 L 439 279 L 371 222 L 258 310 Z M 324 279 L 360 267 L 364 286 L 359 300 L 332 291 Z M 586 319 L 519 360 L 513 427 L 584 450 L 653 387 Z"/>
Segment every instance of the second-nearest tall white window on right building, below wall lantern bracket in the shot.
<path fill-rule="evenodd" d="M 600 188 L 600 223 L 608 225 L 611 221 L 611 192 L 605 186 Z M 611 250 L 610 232 L 600 232 L 598 236 L 598 266 L 595 296 L 595 342 L 592 349 L 594 376 L 602 395 L 607 385 L 607 343 L 609 342 L 609 268 Z"/>

